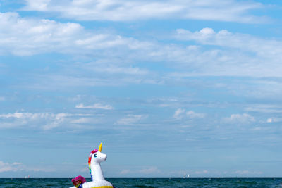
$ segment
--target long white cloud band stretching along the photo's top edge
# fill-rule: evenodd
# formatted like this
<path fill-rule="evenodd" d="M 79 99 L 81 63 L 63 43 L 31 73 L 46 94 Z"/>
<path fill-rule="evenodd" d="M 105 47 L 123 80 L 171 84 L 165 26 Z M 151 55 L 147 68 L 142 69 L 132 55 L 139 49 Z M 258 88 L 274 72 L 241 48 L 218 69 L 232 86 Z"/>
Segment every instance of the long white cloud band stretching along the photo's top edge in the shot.
<path fill-rule="evenodd" d="M 168 0 L 168 1 L 32 1 L 25 0 L 25 11 L 58 13 L 64 18 L 76 20 L 146 20 L 146 19 L 192 19 L 219 20 L 239 23 L 262 23 L 266 18 L 251 15 L 248 11 L 262 8 L 254 2 L 234 0 Z"/>

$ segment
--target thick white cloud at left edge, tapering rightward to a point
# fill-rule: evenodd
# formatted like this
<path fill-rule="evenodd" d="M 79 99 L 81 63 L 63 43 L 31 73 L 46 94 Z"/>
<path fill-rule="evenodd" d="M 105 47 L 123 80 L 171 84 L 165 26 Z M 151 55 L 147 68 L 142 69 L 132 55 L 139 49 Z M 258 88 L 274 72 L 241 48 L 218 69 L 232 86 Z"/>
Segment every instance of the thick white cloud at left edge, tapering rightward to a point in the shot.
<path fill-rule="evenodd" d="M 18 13 L 0 13 L 0 55 L 31 56 L 46 52 L 63 54 L 104 54 L 103 49 L 123 46 L 128 49 L 140 49 L 149 43 L 138 42 L 106 32 L 87 32 L 78 23 L 59 23 L 54 20 L 21 18 Z M 134 68 L 131 71 L 135 70 Z"/>

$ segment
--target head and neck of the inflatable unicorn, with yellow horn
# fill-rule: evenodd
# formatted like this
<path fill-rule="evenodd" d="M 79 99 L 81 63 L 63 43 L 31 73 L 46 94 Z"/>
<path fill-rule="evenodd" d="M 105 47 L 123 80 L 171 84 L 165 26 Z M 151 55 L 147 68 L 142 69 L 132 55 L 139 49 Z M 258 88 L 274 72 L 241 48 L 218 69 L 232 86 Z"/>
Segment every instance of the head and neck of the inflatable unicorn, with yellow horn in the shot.
<path fill-rule="evenodd" d="M 104 180 L 104 175 L 100 163 L 106 161 L 106 154 L 101 153 L 102 151 L 102 142 L 99 146 L 99 149 L 94 149 L 91 151 L 88 158 L 88 165 L 90 170 L 91 179 L 94 180 Z"/>

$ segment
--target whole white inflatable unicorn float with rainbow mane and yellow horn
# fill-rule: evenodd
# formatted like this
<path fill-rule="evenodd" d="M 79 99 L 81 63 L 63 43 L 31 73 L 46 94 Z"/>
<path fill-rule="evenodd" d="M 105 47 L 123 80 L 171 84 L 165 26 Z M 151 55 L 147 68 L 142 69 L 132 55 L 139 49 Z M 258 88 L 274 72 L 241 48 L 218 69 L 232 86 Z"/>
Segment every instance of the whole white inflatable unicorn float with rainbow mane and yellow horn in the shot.
<path fill-rule="evenodd" d="M 88 158 L 88 165 L 90 170 L 91 182 L 86 182 L 85 178 L 79 175 L 73 178 L 74 187 L 71 188 L 115 188 L 113 184 L 106 181 L 100 163 L 106 161 L 106 154 L 101 153 L 102 142 L 99 149 L 91 151 Z"/>

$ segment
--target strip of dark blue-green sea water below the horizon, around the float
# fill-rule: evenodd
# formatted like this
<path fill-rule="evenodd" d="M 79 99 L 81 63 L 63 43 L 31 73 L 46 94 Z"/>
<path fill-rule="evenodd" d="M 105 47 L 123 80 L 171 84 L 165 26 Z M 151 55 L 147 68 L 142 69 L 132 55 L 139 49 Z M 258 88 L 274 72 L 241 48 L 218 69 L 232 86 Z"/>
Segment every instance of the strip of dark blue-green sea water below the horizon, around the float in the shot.
<path fill-rule="evenodd" d="M 123 187 L 282 187 L 282 178 L 109 178 Z M 87 180 L 87 182 L 90 180 Z M 71 187 L 71 178 L 2 178 L 0 187 Z"/>

